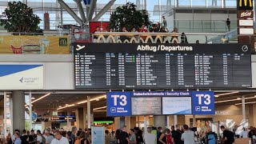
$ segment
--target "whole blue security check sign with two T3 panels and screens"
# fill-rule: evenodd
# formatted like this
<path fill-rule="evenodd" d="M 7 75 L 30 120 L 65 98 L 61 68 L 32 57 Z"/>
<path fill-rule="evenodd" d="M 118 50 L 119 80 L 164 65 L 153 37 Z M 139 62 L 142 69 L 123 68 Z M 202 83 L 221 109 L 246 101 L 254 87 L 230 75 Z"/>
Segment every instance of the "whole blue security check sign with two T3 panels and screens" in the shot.
<path fill-rule="evenodd" d="M 108 116 L 214 113 L 214 92 L 211 91 L 107 93 Z"/>

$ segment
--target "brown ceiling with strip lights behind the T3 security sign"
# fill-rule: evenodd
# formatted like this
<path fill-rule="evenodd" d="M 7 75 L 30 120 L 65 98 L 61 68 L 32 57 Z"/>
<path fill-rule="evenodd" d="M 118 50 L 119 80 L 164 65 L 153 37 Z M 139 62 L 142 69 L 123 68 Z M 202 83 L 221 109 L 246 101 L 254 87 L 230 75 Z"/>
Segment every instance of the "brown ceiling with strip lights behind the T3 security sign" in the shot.
<path fill-rule="evenodd" d="M 75 93 L 75 92 L 74 92 Z M 47 94 L 47 93 L 46 93 Z M 37 100 L 46 94 L 32 94 L 32 98 Z M 256 92 L 222 92 L 215 93 L 215 106 L 221 105 L 241 105 L 242 95 L 247 102 L 256 103 Z M 50 94 L 33 103 L 36 109 L 55 109 L 58 111 L 76 110 L 87 106 L 87 96 L 90 96 L 92 109 L 106 113 L 106 93 L 103 94 Z M 34 101 L 32 100 L 32 102 Z M 103 111 L 102 111 L 103 110 Z M 96 110 L 97 111 L 97 110 Z"/>

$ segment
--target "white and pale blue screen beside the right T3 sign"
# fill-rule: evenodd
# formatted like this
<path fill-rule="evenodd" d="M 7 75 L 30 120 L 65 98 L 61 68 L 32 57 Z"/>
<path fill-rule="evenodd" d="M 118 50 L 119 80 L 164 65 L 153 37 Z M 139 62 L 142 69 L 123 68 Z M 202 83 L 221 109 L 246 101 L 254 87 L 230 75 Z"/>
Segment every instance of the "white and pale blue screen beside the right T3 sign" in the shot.
<path fill-rule="evenodd" d="M 162 114 L 192 114 L 191 97 L 163 97 Z"/>

